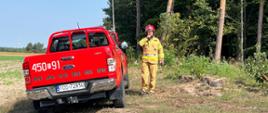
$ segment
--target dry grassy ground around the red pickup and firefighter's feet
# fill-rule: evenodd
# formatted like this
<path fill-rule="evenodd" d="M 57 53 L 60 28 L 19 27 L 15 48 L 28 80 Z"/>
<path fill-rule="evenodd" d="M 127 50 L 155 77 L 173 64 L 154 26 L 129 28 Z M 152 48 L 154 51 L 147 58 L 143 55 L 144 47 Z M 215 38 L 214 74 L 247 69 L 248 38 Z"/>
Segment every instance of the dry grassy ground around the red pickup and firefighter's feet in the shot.
<path fill-rule="evenodd" d="M 22 56 L 23 57 L 23 56 Z M 0 61 L 0 113 L 36 113 L 25 94 L 20 60 Z M 61 106 L 59 113 L 268 113 L 268 92 L 248 90 L 231 81 L 220 96 L 193 95 L 198 82 L 182 83 L 166 79 L 172 68 L 159 72 L 155 94 L 140 95 L 140 68 L 129 67 L 131 86 L 126 90 L 126 108 L 112 108 L 107 101 Z M 211 89 L 198 89 L 212 92 Z"/>

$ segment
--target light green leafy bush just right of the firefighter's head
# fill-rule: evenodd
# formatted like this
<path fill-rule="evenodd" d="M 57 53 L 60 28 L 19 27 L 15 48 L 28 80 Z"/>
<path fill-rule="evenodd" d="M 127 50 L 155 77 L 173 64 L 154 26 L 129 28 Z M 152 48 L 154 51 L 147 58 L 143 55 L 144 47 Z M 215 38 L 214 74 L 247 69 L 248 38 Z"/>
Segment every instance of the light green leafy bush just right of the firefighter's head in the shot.
<path fill-rule="evenodd" d="M 160 15 L 160 21 L 158 32 L 165 34 L 163 37 L 164 46 L 167 48 L 175 47 L 177 55 L 184 56 L 191 43 L 197 40 L 197 36 L 191 34 L 193 21 L 180 19 L 180 13 L 163 13 Z"/>

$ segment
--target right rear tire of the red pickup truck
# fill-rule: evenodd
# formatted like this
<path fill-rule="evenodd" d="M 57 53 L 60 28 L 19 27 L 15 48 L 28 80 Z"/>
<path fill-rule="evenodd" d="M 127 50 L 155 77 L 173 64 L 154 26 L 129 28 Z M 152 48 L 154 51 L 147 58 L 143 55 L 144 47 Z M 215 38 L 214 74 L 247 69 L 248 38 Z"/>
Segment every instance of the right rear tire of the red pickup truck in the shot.
<path fill-rule="evenodd" d="M 122 73 L 122 72 L 121 72 Z M 122 74 L 121 74 L 122 76 Z M 121 77 L 122 78 L 122 77 Z M 116 108 L 124 108 L 125 107 L 125 86 L 124 86 L 124 79 L 121 80 L 120 82 L 120 87 L 119 87 L 119 98 L 113 100 L 114 107 Z"/>

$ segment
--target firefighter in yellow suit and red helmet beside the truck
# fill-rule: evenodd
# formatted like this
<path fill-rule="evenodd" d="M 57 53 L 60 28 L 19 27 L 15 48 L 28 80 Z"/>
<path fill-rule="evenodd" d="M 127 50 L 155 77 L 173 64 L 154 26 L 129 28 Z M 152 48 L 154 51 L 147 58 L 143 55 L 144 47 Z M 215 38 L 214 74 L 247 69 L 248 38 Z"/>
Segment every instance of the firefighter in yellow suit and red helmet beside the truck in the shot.
<path fill-rule="evenodd" d="M 142 38 L 138 44 L 142 48 L 141 85 L 142 94 L 154 93 L 156 87 L 156 75 L 158 63 L 164 64 L 163 46 L 159 39 L 154 36 L 155 27 L 145 27 L 147 36 Z"/>

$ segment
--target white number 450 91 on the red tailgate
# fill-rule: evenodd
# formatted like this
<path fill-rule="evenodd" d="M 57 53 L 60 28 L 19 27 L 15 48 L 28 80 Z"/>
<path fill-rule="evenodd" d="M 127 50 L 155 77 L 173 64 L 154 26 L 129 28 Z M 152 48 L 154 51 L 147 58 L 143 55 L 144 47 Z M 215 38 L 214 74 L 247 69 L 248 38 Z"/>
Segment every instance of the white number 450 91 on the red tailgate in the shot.
<path fill-rule="evenodd" d="M 32 70 L 35 72 L 42 72 L 47 70 L 57 70 L 60 69 L 60 61 L 52 61 L 49 63 L 41 62 L 41 63 L 35 63 L 32 65 Z"/>

